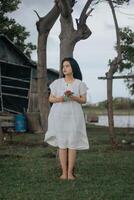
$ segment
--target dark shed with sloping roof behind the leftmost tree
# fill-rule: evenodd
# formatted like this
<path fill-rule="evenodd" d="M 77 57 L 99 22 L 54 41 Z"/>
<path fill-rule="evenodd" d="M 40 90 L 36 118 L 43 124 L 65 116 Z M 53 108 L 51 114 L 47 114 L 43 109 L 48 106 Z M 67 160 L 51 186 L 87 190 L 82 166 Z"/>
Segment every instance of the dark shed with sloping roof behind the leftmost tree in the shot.
<path fill-rule="evenodd" d="M 59 72 L 47 69 L 49 84 Z M 36 85 L 36 64 L 5 35 L 0 35 L 0 111 L 22 113 L 29 105 L 31 83 Z M 34 90 L 35 91 L 35 90 Z M 35 91 L 37 92 L 37 91 Z M 34 111 L 34 110 L 32 110 Z"/>

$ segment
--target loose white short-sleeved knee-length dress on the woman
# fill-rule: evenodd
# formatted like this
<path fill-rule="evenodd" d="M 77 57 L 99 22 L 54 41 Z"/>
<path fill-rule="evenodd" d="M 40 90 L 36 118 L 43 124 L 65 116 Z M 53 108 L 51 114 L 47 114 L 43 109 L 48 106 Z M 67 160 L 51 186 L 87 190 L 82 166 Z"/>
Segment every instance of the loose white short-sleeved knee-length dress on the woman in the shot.
<path fill-rule="evenodd" d="M 66 90 L 71 90 L 76 96 L 86 95 L 88 90 L 86 84 L 79 79 L 67 84 L 64 78 L 59 78 L 49 87 L 55 96 L 63 96 Z M 44 142 L 59 148 L 89 149 L 85 118 L 80 103 L 67 101 L 52 104 Z"/>

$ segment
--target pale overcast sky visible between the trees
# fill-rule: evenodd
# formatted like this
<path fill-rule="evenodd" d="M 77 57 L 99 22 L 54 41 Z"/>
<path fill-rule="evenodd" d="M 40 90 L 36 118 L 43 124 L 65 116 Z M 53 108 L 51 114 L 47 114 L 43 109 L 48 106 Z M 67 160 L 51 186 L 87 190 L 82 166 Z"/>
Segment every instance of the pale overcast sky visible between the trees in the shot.
<path fill-rule="evenodd" d="M 85 2 L 86 0 L 77 1 L 74 6 L 74 19 L 79 18 Z M 28 41 L 37 43 L 35 23 L 38 18 L 33 10 L 36 10 L 40 16 L 44 16 L 53 7 L 53 4 L 54 0 L 22 0 L 19 9 L 11 14 L 17 22 L 24 25 L 30 32 Z M 131 0 L 129 5 L 116 8 L 116 14 L 120 27 L 129 26 L 134 31 L 134 0 Z M 108 71 L 108 60 L 113 59 L 116 55 L 114 50 L 116 42 L 114 23 L 107 3 L 96 6 L 92 16 L 87 20 L 87 25 L 91 29 L 92 35 L 87 40 L 81 40 L 77 43 L 74 58 L 78 61 L 83 74 L 83 81 L 89 88 L 88 101 L 96 103 L 106 99 L 106 81 L 98 80 L 98 76 L 105 76 L 105 72 Z M 59 69 L 59 33 L 60 23 L 57 21 L 49 35 L 47 50 L 48 68 L 57 70 Z M 33 52 L 32 59 L 37 60 L 36 51 Z M 123 80 L 114 80 L 113 97 L 128 97 L 128 94 Z"/>

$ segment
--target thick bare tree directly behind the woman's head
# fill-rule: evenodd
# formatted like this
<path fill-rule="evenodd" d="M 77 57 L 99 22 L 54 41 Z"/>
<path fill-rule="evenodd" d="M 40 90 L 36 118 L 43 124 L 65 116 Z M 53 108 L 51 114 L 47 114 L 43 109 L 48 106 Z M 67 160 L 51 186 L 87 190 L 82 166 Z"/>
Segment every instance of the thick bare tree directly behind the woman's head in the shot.
<path fill-rule="evenodd" d="M 72 12 L 75 0 L 60 0 L 59 8 L 61 12 L 61 33 L 60 38 L 60 63 L 65 57 L 73 57 L 76 43 L 85 40 L 91 35 L 91 30 L 86 25 L 86 20 L 93 9 L 89 9 L 93 0 L 87 0 L 79 19 L 76 19 L 77 30 L 74 28 Z M 60 76 L 61 76 L 60 70 Z"/>

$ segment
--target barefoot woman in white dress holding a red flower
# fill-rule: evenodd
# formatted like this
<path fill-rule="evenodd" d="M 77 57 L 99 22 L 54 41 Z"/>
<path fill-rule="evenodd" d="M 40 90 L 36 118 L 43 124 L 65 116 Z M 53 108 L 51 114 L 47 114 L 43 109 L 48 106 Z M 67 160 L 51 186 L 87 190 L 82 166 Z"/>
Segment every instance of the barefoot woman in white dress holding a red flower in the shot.
<path fill-rule="evenodd" d="M 75 59 L 64 58 L 61 64 L 62 78 L 56 79 L 49 86 L 49 102 L 53 105 L 49 112 L 44 141 L 59 147 L 62 168 L 60 179 L 74 180 L 76 150 L 89 149 L 81 107 L 87 101 L 88 87 L 82 82 L 82 74 Z"/>

